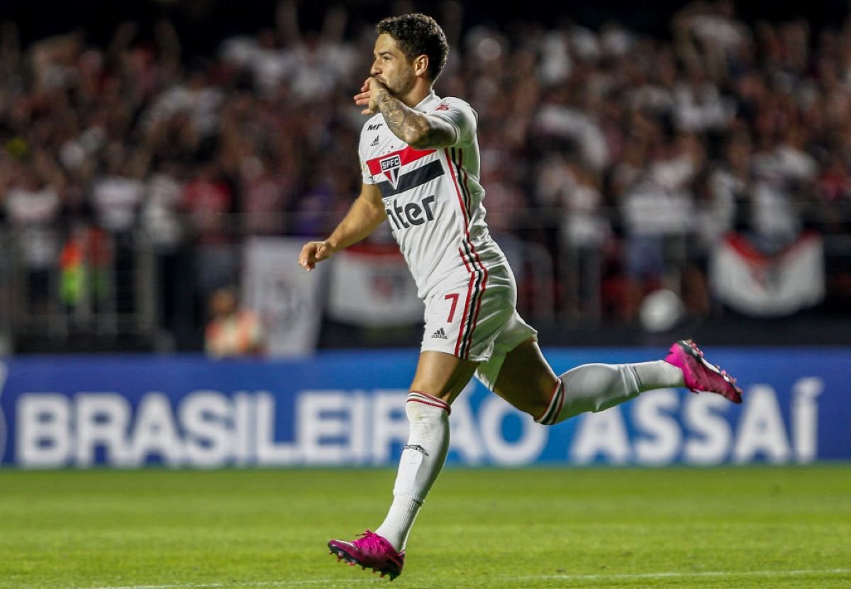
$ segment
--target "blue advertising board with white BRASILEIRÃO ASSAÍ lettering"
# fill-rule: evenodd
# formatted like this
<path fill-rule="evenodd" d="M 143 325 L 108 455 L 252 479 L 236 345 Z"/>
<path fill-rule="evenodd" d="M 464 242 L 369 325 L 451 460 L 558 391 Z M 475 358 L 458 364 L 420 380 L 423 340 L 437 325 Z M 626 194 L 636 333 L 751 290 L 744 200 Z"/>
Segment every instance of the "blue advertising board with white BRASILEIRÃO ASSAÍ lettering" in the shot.
<path fill-rule="evenodd" d="M 851 459 L 851 349 L 711 349 L 745 403 L 683 390 L 539 426 L 480 383 L 454 403 L 448 461 L 666 465 Z M 557 371 L 647 349 L 551 350 Z M 415 350 L 293 361 L 12 357 L 0 457 L 24 468 L 395 465 Z"/>

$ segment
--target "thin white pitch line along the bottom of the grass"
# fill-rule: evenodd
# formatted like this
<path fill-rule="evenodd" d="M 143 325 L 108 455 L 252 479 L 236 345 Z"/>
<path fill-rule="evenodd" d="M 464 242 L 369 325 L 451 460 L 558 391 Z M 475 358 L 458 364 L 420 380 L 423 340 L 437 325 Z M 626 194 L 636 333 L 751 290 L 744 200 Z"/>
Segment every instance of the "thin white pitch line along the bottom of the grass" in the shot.
<path fill-rule="evenodd" d="M 808 575 L 851 575 L 851 569 L 797 569 L 797 570 L 742 570 L 720 571 L 706 570 L 694 572 L 635 573 L 614 575 L 526 575 L 508 577 L 511 580 L 641 580 L 641 579 L 688 579 L 700 577 L 788 577 Z M 78 589 L 215 589 L 216 587 L 296 587 L 310 585 L 328 585 L 338 579 L 312 580 L 259 580 L 228 583 L 174 583 L 170 585 L 125 585 L 80 587 Z M 377 579 L 347 579 L 346 585 L 353 583 L 374 583 Z"/>

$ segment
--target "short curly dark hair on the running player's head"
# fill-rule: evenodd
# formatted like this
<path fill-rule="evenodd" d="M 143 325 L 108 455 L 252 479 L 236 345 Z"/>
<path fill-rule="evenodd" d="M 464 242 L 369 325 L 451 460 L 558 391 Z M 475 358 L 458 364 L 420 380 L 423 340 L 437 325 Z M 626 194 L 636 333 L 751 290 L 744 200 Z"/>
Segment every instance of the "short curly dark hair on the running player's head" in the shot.
<path fill-rule="evenodd" d="M 388 16 L 375 26 L 375 31 L 396 39 L 408 60 L 414 60 L 417 55 L 428 55 L 429 79 L 434 82 L 440 76 L 449 55 L 449 43 L 437 20 L 420 13 Z"/>

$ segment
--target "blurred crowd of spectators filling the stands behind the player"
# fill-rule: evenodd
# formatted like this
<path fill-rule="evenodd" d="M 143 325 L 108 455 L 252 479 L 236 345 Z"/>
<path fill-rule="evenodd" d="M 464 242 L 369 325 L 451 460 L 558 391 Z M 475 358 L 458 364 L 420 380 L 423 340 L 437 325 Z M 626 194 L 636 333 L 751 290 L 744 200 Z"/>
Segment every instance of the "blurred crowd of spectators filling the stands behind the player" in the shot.
<path fill-rule="evenodd" d="M 338 8 L 302 31 L 295 6 L 191 59 L 168 20 L 144 38 L 123 23 L 106 47 L 79 31 L 21 47 L 3 24 L 0 217 L 26 230 L 36 288 L 75 239 L 106 235 L 120 259 L 142 234 L 163 289 L 194 277 L 204 300 L 237 282 L 244 237 L 334 226 L 359 189 L 351 95 L 374 30 Z M 630 319 L 665 282 L 671 238 L 688 244 L 677 289 L 705 313 L 725 233 L 766 254 L 851 233 L 851 21 L 747 25 L 728 0 L 673 14 L 667 38 L 472 25 L 460 3 L 434 16 L 452 46 L 437 92 L 478 112 L 492 231 L 597 266 L 604 316 Z"/>

